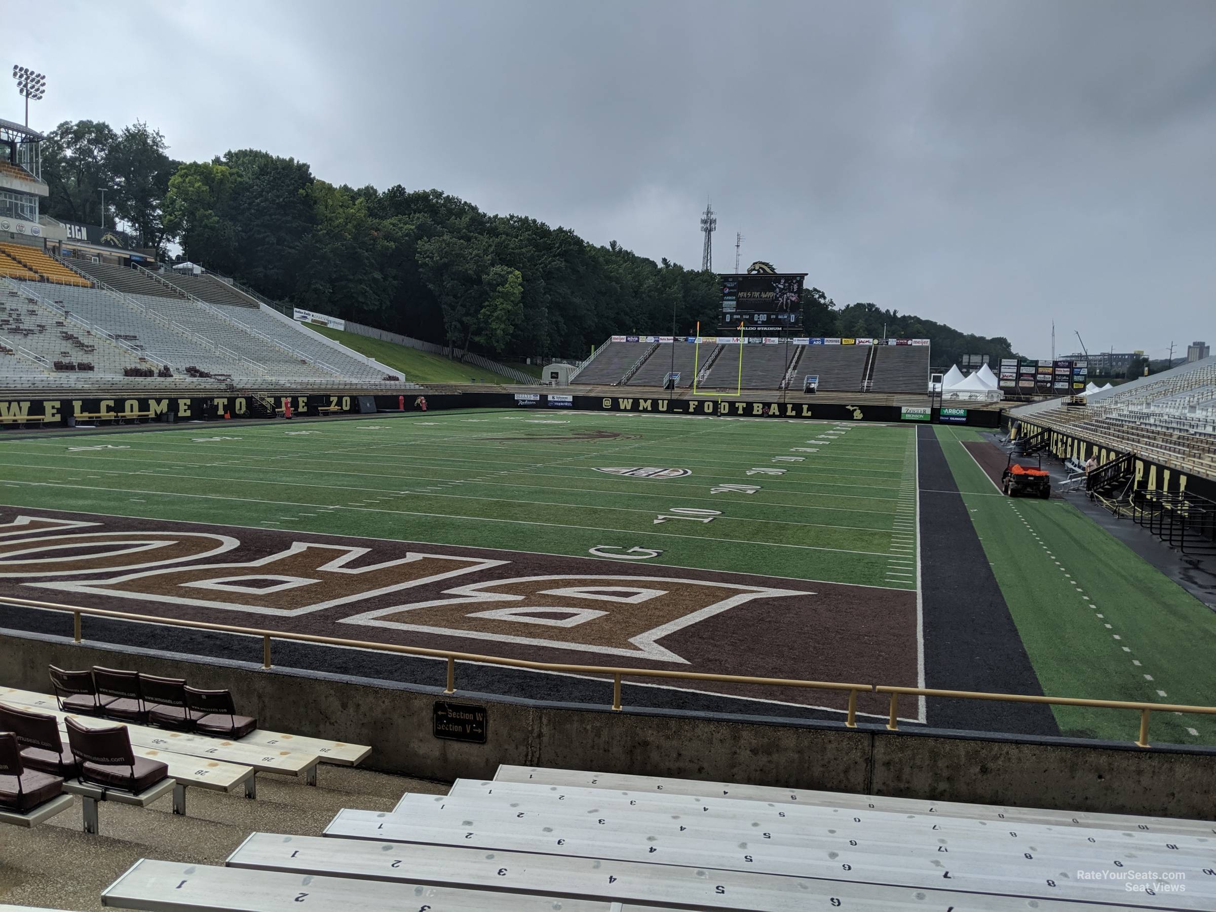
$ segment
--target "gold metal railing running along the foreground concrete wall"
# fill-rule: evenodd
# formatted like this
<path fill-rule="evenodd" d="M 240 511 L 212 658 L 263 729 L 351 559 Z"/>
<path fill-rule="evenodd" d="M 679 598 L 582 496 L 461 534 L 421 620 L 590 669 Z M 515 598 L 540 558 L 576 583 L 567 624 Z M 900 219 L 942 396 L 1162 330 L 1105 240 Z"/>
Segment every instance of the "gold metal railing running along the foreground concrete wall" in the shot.
<path fill-rule="evenodd" d="M 480 655 L 478 653 L 452 652 L 450 649 L 428 649 L 421 646 L 398 646 L 395 643 L 376 643 L 362 640 L 344 640 L 338 637 L 321 636 L 317 634 L 293 634 L 283 630 L 261 630 L 259 627 L 241 627 L 231 624 L 210 624 L 198 620 L 181 620 L 179 618 L 161 618 L 150 614 L 133 614 L 130 612 L 113 612 L 105 608 L 85 608 L 83 606 L 60 604 L 56 602 L 38 602 L 28 598 L 11 598 L 0 596 L 0 604 L 17 606 L 21 608 L 38 608 L 43 610 L 62 612 L 72 615 L 72 640 L 84 642 L 83 619 L 85 615 L 98 618 L 112 618 L 116 620 L 130 620 L 145 624 L 159 624 L 175 627 L 188 627 L 191 630 L 213 630 L 223 634 L 238 636 L 250 636 L 261 640 L 261 668 L 274 668 L 271 655 L 271 643 L 274 640 L 287 640 L 303 643 L 320 643 L 322 646 L 339 646 L 353 649 L 368 649 L 373 652 L 389 652 L 402 655 L 423 655 L 428 658 L 444 659 L 447 665 L 446 685 L 444 693 L 456 692 L 456 663 L 472 662 L 482 665 L 502 665 L 505 668 L 522 668 L 534 671 L 557 671 L 576 675 L 597 675 L 612 677 L 612 708 L 620 711 L 621 681 L 626 677 L 651 677 L 668 679 L 677 681 L 713 681 L 716 683 L 756 685 L 767 687 L 799 687 L 814 691 L 835 691 L 849 694 L 849 704 L 845 714 L 845 726 L 857 727 L 857 694 L 874 693 L 886 694 L 888 717 L 886 728 L 899 731 L 899 700 L 900 697 L 941 697 L 947 699 L 967 700 L 992 700 L 998 703 L 1034 703 L 1051 706 L 1088 706 L 1094 709 L 1120 709 L 1139 713 L 1139 736 L 1133 742 L 1139 748 L 1152 747 L 1148 741 L 1149 719 L 1152 713 L 1190 713 L 1199 715 L 1216 715 L 1216 706 L 1192 706 L 1175 703 L 1143 703 L 1136 700 L 1107 700 L 1090 699 L 1083 697 L 1045 697 L 1038 694 L 1023 693 L 985 693 L 981 691 L 945 691 L 933 687 L 900 687 L 890 685 L 845 683 L 841 681 L 801 681 L 784 677 L 753 677 L 748 675 L 716 675 L 708 671 L 669 671 L 665 669 L 640 669 L 640 668 L 614 668 L 610 665 L 572 665 L 551 662 L 530 662 L 528 659 L 510 659 L 502 655 Z M 905 720 L 907 721 L 907 720 Z"/>

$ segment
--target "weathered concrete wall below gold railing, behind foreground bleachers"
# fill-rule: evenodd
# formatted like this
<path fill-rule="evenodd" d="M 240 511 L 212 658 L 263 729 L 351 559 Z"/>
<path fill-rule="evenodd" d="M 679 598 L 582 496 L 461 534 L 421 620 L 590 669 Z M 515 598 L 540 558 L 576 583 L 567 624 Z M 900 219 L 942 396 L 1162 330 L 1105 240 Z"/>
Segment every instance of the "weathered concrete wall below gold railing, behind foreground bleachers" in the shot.
<path fill-rule="evenodd" d="M 0 631 L 0 685 L 49 691 L 46 666 L 109 665 L 229 687 L 265 728 L 371 744 L 366 765 L 450 781 L 499 764 L 1175 817 L 1216 817 L 1216 750 L 831 722 L 623 711 L 101 648 Z M 458 680 L 458 679 L 457 679 Z M 606 696 L 608 685 L 606 683 Z M 435 699 L 485 706 L 486 743 L 435 738 Z"/>

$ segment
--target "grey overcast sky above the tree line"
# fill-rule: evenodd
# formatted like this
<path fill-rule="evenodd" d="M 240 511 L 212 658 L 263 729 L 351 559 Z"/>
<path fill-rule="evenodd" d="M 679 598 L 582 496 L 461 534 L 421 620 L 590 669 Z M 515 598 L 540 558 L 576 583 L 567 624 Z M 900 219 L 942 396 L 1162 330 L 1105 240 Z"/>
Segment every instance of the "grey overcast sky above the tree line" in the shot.
<path fill-rule="evenodd" d="M 1031 356 L 1216 343 L 1216 2 L 0 0 L 30 125 L 142 119 Z M 10 90 L 0 117 L 19 120 Z"/>

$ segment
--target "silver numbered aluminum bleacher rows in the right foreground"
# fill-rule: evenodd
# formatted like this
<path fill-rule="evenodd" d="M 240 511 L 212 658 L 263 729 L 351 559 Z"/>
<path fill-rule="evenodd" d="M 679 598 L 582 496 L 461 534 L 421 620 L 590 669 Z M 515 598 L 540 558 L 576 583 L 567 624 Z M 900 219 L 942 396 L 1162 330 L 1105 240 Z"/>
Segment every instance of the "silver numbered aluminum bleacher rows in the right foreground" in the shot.
<path fill-rule="evenodd" d="M 250 895 L 348 882 L 351 903 L 378 884 L 372 902 L 450 890 L 475 908 L 1210 910 L 1211 833 L 1205 821 L 501 766 L 390 812 L 344 810 L 323 838 L 253 833 L 225 868 L 195 871 L 225 890 L 214 872 L 240 871 L 231 883 Z M 154 882 L 116 884 L 139 907 L 159 907 L 182 877 L 154 863 Z M 1128 891 L 1120 871 L 1187 889 Z"/>

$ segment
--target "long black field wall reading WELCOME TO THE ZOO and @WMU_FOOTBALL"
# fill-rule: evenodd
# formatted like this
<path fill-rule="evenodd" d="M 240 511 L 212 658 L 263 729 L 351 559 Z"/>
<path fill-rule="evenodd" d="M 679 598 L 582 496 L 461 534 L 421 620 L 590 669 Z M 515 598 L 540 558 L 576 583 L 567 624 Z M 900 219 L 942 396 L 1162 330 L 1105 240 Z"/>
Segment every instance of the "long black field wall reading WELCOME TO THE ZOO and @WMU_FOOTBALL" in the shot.
<path fill-rule="evenodd" d="M 438 393 L 412 390 L 396 395 L 360 396 L 350 393 L 252 396 L 114 396 L 113 399 L 0 399 L 0 426 L 71 427 L 136 421 L 207 421 L 270 418 L 291 409 L 293 416 L 424 412 L 449 409 L 578 409 L 580 411 L 702 415 L 748 418 L 811 418 L 818 421 L 950 422 L 995 428 L 1001 411 L 931 409 L 929 406 L 841 405 L 773 400 L 668 399 L 665 396 L 586 396 L 569 393 Z"/>

